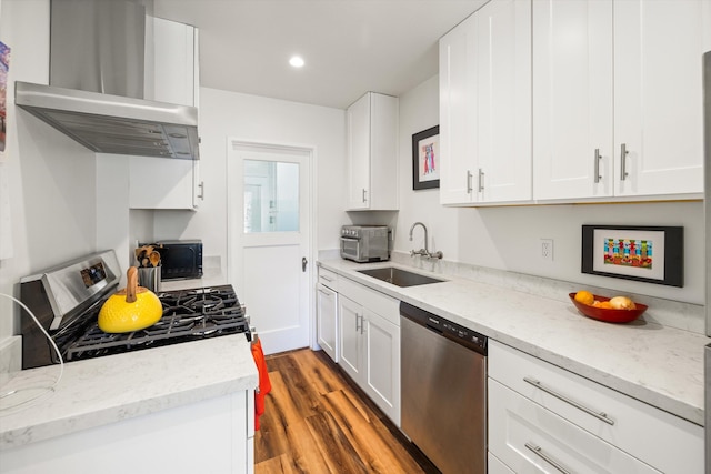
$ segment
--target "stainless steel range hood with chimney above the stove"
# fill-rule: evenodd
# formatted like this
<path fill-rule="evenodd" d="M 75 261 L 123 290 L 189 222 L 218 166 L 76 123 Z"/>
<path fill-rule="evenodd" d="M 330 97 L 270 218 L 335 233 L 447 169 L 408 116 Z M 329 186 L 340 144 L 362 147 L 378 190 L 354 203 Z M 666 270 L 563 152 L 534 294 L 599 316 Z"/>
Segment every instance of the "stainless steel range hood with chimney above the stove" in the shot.
<path fill-rule="evenodd" d="M 198 109 L 146 100 L 146 0 L 52 0 L 50 85 L 16 104 L 101 153 L 197 160 Z"/>

